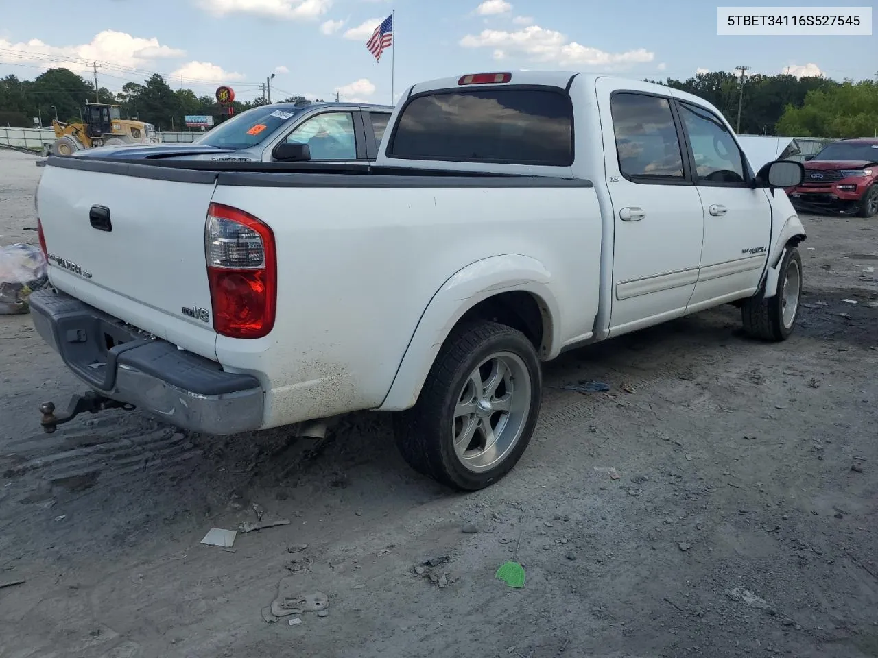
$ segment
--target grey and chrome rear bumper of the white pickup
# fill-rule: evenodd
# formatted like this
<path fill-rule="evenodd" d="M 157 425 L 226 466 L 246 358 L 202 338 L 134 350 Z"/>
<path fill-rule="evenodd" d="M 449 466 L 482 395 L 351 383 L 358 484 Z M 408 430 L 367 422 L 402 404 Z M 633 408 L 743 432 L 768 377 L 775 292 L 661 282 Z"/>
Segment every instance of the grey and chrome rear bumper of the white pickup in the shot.
<path fill-rule="evenodd" d="M 171 425 L 234 434 L 263 425 L 264 391 L 253 375 L 178 349 L 54 290 L 29 298 L 33 325 L 73 373 L 97 392 Z"/>

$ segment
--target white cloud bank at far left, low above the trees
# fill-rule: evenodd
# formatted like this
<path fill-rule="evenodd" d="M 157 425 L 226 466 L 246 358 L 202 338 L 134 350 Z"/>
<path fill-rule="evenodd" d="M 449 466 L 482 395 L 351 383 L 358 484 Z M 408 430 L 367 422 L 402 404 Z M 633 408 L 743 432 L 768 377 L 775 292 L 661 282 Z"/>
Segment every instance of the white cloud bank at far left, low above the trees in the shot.
<path fill-rule="evenodd" d="M 42 68 L 64 67 L 72 71 L 86 70 L 86 60 L 112 62 L 124 67 L 148 66 L 153 60 L 183 57 L 185 50 L 159 43 L 159 40 L 133 37 L 127 32 L 104 30 L 87 44 L 78 46 L 50 46 L 40 39 L 26 43 L 11 43 L 0 39 L 0 63 L 18 64 L 38 62 Z M 10 53 L 9 51 L 17 51 Z"/>

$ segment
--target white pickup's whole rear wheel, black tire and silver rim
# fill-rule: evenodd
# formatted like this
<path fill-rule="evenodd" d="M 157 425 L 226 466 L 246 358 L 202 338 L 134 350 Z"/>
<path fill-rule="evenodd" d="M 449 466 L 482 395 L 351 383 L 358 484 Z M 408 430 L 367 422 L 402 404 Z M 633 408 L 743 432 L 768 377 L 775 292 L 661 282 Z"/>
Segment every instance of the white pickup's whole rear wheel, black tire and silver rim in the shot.
<path fill-rule="evenodd" d="M 523 333 L 465 325 L 439 351 L 417 404 L 396 416 L 399 451 L 439 483 L 484 489 L 521 459 L 542 392 L 536 349 Z"/>

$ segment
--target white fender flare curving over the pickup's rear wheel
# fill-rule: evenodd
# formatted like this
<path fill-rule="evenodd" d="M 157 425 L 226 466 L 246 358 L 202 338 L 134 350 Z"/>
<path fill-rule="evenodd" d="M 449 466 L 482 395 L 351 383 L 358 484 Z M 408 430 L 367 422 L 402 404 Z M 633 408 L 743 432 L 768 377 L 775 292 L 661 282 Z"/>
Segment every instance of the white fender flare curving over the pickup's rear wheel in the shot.
<path fill-rule="evenodd" d="M 543 312 L 558 326 L 558 299 L 550 290 L 551 273 L 543 263 L 521 254 L 492 256 L 457 271 L 436 290 L 421 314 L 406 352 L 393 377 L 390 390 L 378 411 L 402 411 L 413 406 L 433 367 L 445 339 L 476 304 L 503 292 L 522 290 L 534 295 Z M 543 319 L 543 322 L 545 319 Z M 551 359 L 560 352 L 558 333 L 543 338 L 541 358 Z"/>

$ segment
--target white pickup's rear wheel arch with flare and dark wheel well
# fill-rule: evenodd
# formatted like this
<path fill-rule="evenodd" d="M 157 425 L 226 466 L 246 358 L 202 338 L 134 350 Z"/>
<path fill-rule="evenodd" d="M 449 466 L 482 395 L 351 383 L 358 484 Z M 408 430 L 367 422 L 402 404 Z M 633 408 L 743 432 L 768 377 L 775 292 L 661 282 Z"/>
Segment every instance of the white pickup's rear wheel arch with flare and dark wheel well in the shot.
<path fill-rule="evenodd" d="M 460 269 L 430 299 L 414 329 L 381 411 L 402 411 L 418 400 L 439 349 L 470 319 L 496 318 L 524 333 L 541 360 L 560 352 L 558 300 L 543 263 L 521 254 L 492 256 Z"/>

